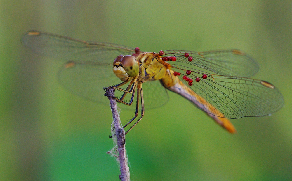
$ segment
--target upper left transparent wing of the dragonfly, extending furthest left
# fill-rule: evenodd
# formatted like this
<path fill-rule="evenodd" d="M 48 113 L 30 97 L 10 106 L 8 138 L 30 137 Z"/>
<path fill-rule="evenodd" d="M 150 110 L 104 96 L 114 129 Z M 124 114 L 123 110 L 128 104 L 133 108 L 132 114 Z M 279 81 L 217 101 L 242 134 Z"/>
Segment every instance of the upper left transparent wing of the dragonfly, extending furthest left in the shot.
<path fill-rule="evenodd" d="M 22 42 L 38 54 L 76 62 L 112 64 L 118 55 L 135 53 L 133 48 L 122 45 L 86 42 L 39 31 L 28 31 L 22 37 Z"/>

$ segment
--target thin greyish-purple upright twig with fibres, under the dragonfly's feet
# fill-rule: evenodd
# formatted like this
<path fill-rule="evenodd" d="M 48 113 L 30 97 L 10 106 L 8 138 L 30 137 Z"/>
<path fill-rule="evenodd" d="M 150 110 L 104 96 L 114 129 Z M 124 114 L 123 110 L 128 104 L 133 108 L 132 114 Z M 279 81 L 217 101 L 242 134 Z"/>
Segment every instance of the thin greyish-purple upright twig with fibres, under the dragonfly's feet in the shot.
<path fill-rule="evenodd" d="M 105 89 L 105 96 L 109 99 L 110 107 L 112 109 L 112 117 L 114 123 L 114 130 L 115 132 L 112 133 L 113 140 L 114 138 L 117 139 L 117 147 L 119 155 L 115 155 L 120 162 L 120 171 L 121 175 L 119 178 L 121 181 L 129 181 L 130 180 L 130 171 L 128 167 L 128 158 L 126 156 L 126 148 L 125 148 L 125 130 L 121 127 L 121 120 L 119 113 L 117 111 L 117 103 L 114 99 L 114 88 L 104 88 Z M 116 146 L 113 148 L 116 149 Z M 111 151 L 110 151 L 111 152 Z M 109 152 L 108 152 L 109 153 Z"/>

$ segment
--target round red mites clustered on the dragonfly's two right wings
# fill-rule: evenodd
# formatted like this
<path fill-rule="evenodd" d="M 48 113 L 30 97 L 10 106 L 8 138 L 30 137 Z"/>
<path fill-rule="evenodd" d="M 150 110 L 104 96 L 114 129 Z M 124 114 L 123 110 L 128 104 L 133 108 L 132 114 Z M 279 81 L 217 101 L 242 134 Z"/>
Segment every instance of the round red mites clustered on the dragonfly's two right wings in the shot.
<path fill-rule="evenodd" d="M 163 54 L 164 54 L 164 52 L 161 50 L 161 51 L 159 52 L 159 55 L 163 55 Z M 187 58 L 187 60 L 188 60 L 189 62 L 193 61 L 193 57 L 191 57 L 188 53 L 185 53 L 184 56 L 185 56 L 185 58 Z M 175 57 L 175 56 L 162 57 L 162 61 L 176 61 L 176 57 Z M 187 70 L 187 71 L 186 71 L 186 74 L 187 74 L 187 75 L 190 75 L 191 73 L 192 73 L 192 71 L 190 71 L 190 70 Z M 173 75 L 174 75 L 174 76 L 180 75 L 180 72 L 173 72 Z M 202 78 L 203 78 L 203 79 L 207 79 L 207 75 L 204 74 L 204 75 L 202 76 Z M 186 75 L 183 76 L 183 79 L 184 79 L 185 81 L 188 82 L 189 86 L 192 86 L 192 85 L 193 85 L 193 79 L 190 79 L 190 78 L 187 77 Z M 196 82 L 199 82 L 199 81 L 200 81 L 200 78 L 197 77 L 197 78 L 195 79 L 195 81 L 196 81 Z"/>

